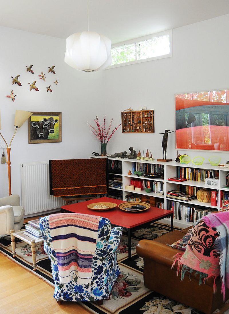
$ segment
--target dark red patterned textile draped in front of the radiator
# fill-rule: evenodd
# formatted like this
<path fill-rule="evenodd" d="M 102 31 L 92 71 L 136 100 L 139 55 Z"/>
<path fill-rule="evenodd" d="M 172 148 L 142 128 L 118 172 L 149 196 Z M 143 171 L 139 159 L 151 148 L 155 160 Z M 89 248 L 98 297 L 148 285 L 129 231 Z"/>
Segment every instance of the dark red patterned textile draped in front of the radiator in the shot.
<path fill-rule="evenodd" d="M 49 160 L 50 194 L 56 197 L 107 193 L 107 160 Z"/>

